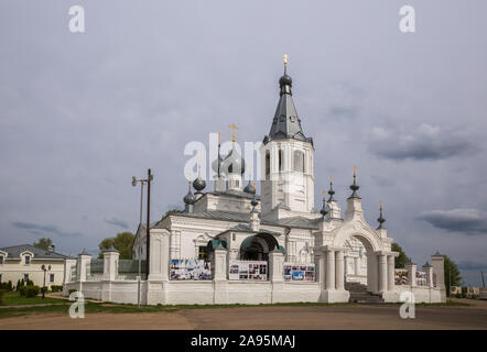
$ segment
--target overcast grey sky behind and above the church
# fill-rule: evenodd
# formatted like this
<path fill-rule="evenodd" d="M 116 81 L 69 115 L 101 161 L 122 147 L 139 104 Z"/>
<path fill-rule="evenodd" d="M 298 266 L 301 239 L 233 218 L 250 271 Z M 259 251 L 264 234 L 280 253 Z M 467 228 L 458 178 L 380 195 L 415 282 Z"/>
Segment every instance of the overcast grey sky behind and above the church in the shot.
<path fill-rule="evenodd" d="M 86 32 L 68 30 L 80 4 Z M 416 32 L 399 31 L 411 4 Z M 184 145 L 209 132 L 269 133 L 289 54 L 293 98 L 314 139 L 315 194 L 351 166 L 366 218 L 419 265 L 436 251 L 466 283 L 487 271 L 487 2 L 20 1 L 0 3 L 0 246 L 50 237 L 97 252 L 183 207 Z M 213 185 L 210 185 L 213 187 Z"/>

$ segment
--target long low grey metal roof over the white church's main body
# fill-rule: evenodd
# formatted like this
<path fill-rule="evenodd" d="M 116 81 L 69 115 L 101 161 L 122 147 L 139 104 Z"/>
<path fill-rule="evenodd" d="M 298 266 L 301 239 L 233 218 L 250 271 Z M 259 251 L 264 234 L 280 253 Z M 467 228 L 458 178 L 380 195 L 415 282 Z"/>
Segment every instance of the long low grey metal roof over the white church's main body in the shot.
<path fill-rule="evenodd" d="M 248 212 L 236 212 L 236 211 L 221 211 L 221 210 L 210 210 L 203 212 L 180 212 L 173 215 L 174 217 L 188 217 L 188 218 L 199 218 L 209 220 L 223 220 L 223 221 L 235 221 L 235 222 L 249 222 Z M 282 227 L 282 228 L 300 228 L 300 229 L 311 229 L 317 230 L 317 220 L 307 219 L 304 217 L 293 217 L 280 220 L 261 220 L 261 224 Z"/>

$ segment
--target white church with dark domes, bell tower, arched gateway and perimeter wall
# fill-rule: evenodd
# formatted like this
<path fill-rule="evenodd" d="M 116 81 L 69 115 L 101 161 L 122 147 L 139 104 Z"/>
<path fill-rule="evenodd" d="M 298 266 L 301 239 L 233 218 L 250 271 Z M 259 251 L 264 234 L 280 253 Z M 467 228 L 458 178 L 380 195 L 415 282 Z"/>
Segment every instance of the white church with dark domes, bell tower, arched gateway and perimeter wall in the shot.
<path fill-rule="evenodd" d="M 444 301 L 443 256 L 420 271 L 409 263 L 398 280 L 392 239 L 383 226 L 364 218 L 354 177 L 343 213 L 333 183 L 314 200 L 313 139 L 302 129 L 292 96 L 292 79 L 279 79 L 280 98 L 260 153 L 260 189 L 245 184 L 246 161 L 235 146 L 213 161 L 214 189 L 197 177 L 184 197 L 185 209 L 147 229 L 139 227 L 132 261 L 116 250 L 104 260 L 82 253 L 67 260 L 64 293 L 117 302 L 271 304 L 291 301 L 390 302 L 401 293 L 415 301 Z M 193 188 L 193 189 L 192 189 Z M 149 245 L 148 245 L 149 244 Z M 149 252 L 148 252 L 149 249 Z M 149 255 L 148 255 L 149 254 Z M 137 262 L 149 261 L 143 275 Z M 401 278 L 401 277 L 399 277 Z"/>

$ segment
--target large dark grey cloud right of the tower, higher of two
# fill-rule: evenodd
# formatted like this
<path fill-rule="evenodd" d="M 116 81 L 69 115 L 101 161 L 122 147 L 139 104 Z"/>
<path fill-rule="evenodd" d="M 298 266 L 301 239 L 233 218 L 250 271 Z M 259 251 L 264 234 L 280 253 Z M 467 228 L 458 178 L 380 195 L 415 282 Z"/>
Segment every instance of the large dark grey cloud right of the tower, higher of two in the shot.
<path fill-rule="evenodd" d="M 475 152 L 472 135 L 423 123 L 413 131 L 374 128 L 369 150 L 389 160 L 444 160 Z"/>

